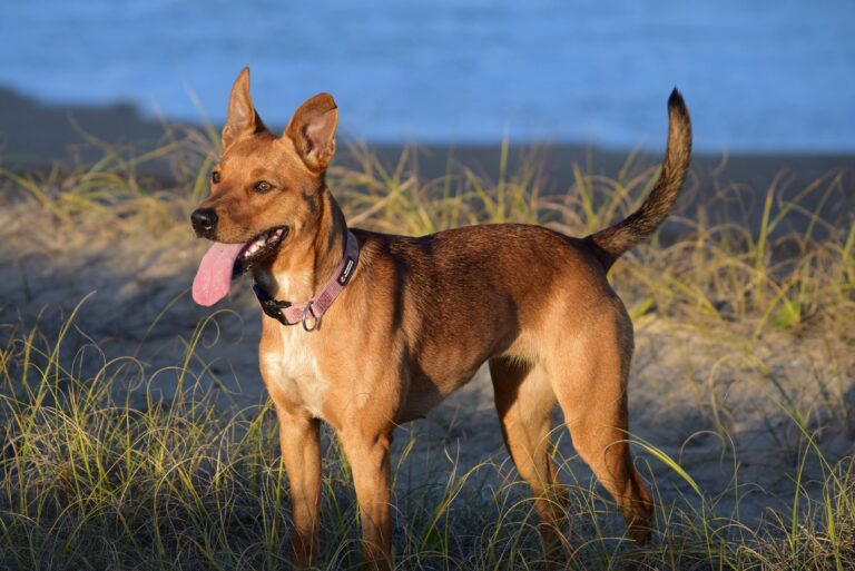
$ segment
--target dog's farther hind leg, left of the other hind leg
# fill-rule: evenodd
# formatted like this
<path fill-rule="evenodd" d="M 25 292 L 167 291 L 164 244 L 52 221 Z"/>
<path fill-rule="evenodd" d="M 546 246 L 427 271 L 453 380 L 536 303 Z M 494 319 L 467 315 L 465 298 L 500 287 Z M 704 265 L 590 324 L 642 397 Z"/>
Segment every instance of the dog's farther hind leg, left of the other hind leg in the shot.
<path fill-rule="evenodd" d="M 490 361 L 502 435 L 517 471 L 534 494 L 547 553 L 559 547 L 567 491 L 551 457 L 550 431 L 556 395 L 546 372 L 509 357 Z"/>

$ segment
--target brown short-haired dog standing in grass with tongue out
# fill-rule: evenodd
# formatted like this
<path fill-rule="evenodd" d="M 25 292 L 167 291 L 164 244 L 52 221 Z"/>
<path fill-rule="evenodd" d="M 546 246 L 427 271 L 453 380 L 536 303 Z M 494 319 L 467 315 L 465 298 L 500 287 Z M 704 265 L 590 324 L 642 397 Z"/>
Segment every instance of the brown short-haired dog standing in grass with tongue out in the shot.
<path fill-rule="evenodd" d="M 412 238 L 347 229 L 324 177 L 338 120 L 331 96 L 303 104 L 277 137 L 253 107 L 248 69 L 240 72 L 212 195 L 191 216 L 196 233 L 217 243 L 194 298 L 210 305 L 234 275 L 255 278 L 265 308 L 261 370 L 279 421 L 299 565 L 318 548 L 321 421 L 353 470 L 367 564 L 389 569 L 392 433 L 484 362 L 544 543 L 554 543 L 566 495 L 550 457 L 557 402 L 629 535 L 649 540 L 652 504 L 627 443 L 632 323 L 606 273 L 665 220 L 682 186 L 691 129 L 677 90 L 668 110 L 659 180 L 617 225 L 581 239 L 515 224 Z"/>

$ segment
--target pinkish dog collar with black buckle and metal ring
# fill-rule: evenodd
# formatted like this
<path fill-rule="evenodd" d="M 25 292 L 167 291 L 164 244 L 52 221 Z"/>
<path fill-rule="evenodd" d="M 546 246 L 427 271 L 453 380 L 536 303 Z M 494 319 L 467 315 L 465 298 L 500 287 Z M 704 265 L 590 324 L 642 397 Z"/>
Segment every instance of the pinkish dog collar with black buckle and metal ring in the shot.
<path fill-rule="evenodd" d="M 303 324 L 306 331 L 314 331 L 321 323 L 321 316 L 326 313 L 344 286 L 351 280 L 356 264 L 360 260 L 360 243 L 351 230 L 347 230 L 347 242 L 344 246 L 344 256 L 338 264 L 333 277 L 324 285 L 321 293 L 308 302 L 291 303 L 279 302 L 267 294 L 258 284 L 253 284 L 253 292 L 258 303 L 262 304 L 262 311 L 278 321 L 283 325 Z"/>

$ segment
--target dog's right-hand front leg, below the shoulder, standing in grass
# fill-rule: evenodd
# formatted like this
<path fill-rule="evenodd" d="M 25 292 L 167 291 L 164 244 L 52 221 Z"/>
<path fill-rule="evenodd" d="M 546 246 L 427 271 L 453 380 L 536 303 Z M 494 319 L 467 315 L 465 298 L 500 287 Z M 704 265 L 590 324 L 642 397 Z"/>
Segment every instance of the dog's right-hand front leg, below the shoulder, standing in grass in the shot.
<path fill-rule="evenodd" d="M 392 430 L 391 426 L 382 431 L 354 427 L 340 434 L 360 504 L 365 569 L 372 571 L 385 571 L 393 567 L 389 459 Z"/>

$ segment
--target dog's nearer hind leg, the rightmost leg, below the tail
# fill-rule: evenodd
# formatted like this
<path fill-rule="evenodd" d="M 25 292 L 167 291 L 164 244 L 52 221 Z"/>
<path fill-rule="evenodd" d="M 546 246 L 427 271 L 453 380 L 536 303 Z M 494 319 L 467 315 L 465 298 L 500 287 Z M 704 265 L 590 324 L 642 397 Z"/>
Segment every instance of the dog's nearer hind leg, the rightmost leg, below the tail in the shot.
<path fill-rule="evenodd" d="M 632 331 L 622 307 L 612 315 L 617 318 L 598 319 L 583 334 L 557 341 L 546 363 L 576 451 L 621 508 L 629 536 L 647 543 L 652 501 L 628 442 Z"/>

